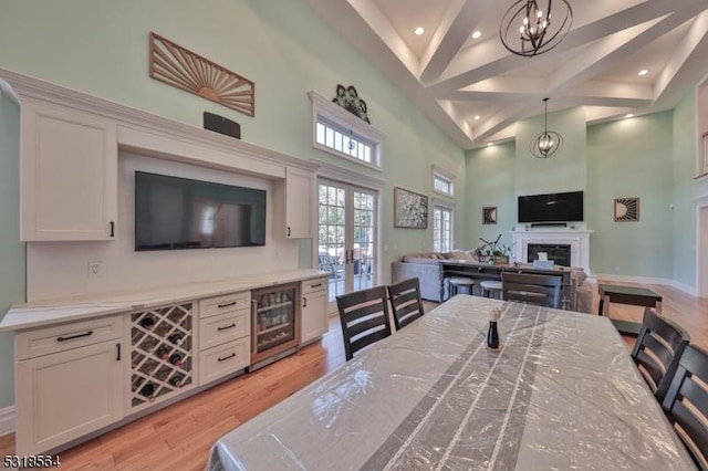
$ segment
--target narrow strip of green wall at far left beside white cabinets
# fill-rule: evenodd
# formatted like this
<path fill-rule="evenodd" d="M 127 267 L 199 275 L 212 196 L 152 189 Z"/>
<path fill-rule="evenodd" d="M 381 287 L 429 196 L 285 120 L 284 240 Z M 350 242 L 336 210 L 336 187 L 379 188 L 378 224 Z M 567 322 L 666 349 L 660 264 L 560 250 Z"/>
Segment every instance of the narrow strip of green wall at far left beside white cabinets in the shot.
<path fill-rule="evenodd" d="M 0 93 L 0 318 L 24 301 L 20 243 L 20 109 Z M 14 404 L 14 334 L 0 334 L 0 409 Z"/>

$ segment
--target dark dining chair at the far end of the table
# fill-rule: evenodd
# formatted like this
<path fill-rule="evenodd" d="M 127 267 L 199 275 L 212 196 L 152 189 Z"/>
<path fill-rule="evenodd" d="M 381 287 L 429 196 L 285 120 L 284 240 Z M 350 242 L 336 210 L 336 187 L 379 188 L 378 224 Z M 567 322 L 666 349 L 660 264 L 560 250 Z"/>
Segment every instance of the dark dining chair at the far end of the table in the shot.
<path fill-rule="evenodd" d="M 562 283 L 561 276 L 501 272 L 502 297 L 508 301 L 560 308 Z"/>

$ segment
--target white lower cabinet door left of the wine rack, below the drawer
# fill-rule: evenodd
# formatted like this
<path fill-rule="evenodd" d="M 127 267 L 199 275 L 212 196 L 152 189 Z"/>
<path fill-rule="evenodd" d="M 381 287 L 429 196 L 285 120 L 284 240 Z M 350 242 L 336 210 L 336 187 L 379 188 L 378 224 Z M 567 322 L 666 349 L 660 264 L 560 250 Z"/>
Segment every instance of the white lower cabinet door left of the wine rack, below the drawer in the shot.
<path fill-rule="evenodd" d="M 37 454 L 123 418 L 121 341 L 17 363 L 17 454 Z"/>

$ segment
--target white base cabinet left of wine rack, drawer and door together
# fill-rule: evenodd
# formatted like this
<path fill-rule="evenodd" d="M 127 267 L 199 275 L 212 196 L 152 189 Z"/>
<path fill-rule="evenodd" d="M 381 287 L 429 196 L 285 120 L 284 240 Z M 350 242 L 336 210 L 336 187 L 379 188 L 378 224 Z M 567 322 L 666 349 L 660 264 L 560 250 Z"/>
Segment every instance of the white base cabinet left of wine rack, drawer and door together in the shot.
<path fill-rule="evenodd" d="M 123 418 L 121 320 L 18 333 L 17 454 L 48 451 Z M 46 354 L 20 359 L 40 352 Z"/>

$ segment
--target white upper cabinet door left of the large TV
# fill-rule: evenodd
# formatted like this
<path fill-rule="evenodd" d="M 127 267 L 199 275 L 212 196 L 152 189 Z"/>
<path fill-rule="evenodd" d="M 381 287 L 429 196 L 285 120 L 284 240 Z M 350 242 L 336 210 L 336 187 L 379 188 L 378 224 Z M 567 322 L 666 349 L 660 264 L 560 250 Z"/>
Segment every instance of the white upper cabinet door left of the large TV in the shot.
<path fill-rule="evenodd" d="M 23 241 L 111 240 L 117 212 L 115 123 L 22 102 Z"/>

